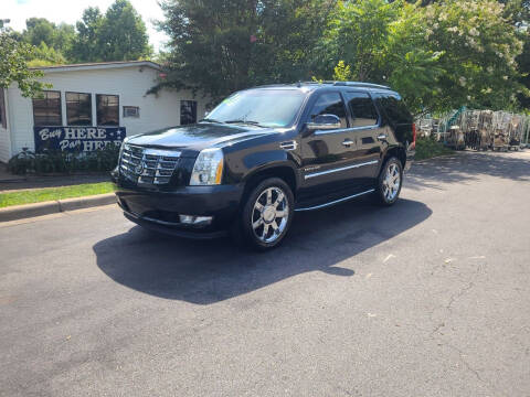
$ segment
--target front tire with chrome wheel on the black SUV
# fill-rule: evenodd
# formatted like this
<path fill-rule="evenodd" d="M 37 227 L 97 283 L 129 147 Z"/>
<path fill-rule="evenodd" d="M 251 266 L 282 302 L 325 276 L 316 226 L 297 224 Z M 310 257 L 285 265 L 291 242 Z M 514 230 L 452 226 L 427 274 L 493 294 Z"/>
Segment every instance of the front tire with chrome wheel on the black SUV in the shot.
<path fill-rule="evenodd" d="M 277 247 L 290 227 L 294 206 L 293 191 L 284 180 L 264 180 L 247 195 L 233 225 L 233 238 L 259 251 Z"/>

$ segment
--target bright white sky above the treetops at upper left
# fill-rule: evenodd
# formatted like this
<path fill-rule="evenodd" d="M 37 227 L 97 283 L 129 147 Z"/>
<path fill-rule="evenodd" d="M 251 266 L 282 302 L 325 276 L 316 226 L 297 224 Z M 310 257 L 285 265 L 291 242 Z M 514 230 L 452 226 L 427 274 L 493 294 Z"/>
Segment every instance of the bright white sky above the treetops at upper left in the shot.
<path fill-rule="evenodd" d="M 129 0 L 146 23 L 149 42 L 159 50 L 167 36 L 158 32 L 152 20 L 163 18 L 157 0 Z M 32 17 L 45 18 L 52 22 L 75 24 L 88 7 L 99 7 L 105 12 L 114 0 L 0 0 L 0 19 L 10 19 L 8 26 L 21 32 L 25 20 Z"/>

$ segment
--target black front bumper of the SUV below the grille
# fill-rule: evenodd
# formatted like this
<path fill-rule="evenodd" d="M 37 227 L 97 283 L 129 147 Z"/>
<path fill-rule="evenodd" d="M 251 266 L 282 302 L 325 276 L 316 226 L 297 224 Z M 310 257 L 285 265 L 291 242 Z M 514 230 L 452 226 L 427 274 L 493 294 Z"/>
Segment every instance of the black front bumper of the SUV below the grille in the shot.
<path fill-rule="evenodd" d="M 225 234 L 243 195 L 243 185 L 181 186 L 157 190 L 135 186 L 113 175 L 118 205 L 136 224 L 180 237 L 212 238 Z M 209 225 L 189 225 L 180 215 L 211 216 Z"/>

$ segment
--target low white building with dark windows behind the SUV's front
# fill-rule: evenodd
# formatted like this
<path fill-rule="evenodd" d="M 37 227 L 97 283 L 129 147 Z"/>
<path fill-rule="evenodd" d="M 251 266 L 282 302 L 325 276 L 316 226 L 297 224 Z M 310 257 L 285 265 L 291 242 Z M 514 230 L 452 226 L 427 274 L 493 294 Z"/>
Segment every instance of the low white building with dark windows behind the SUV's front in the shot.
<path fill-rule="evenodd" d="M 0 161 L 28 148 L 91 151 L 127 135 L 191 124 L 208 100 L 156 85 L 160 66 L 148 61 L 41 68 L 52 84 L 39 98 L 24 98 L 17 85 L 0 89 Z"/>

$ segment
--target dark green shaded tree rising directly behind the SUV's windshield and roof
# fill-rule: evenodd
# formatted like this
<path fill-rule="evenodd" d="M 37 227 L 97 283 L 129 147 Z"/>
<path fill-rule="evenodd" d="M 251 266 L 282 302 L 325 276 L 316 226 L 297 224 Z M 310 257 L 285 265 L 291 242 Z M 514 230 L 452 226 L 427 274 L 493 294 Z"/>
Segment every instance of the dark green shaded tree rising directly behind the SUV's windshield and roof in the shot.
<path fill-rule="evenodd" d="M 309 79 L 328 0 L 167 0 L 169 35 L 162 86 L 214 99 L 252 85 Z"/>

